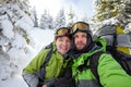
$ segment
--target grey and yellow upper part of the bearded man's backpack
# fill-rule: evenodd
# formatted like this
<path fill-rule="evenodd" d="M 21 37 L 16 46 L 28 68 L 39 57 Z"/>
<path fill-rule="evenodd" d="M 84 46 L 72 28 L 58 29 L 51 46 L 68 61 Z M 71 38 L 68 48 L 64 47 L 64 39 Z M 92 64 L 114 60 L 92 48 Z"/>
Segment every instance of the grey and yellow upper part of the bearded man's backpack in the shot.
<path fill-rule="evenodd" d="M 115 47 L 117 50 L 131 54 L 131 39 L 129 34 L 118 25 L 105 25 L 94 35 L 96 38 L 104 38 L 107 46 Z"/>

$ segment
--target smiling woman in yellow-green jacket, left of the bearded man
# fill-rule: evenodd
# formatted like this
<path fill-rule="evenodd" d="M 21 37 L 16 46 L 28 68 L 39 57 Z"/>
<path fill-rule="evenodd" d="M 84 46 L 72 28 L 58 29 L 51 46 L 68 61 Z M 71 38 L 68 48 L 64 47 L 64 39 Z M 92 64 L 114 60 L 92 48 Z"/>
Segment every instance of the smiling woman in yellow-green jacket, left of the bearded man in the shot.
<path fill-rule="evenodd" d="M 71 46 L 70 29 L 61 27 L 55 33 L 55 41 L 52 42 L 52 54 L 48 64 L 40 71 L 43 78 L 43 87 L 53 87 L 56 78 L 62 75 L 62 72 L 70 65 L 71 59 L 67 55 Z M 50 49 L 39 52 L 29 64 L 23 70 L 23 78 L 29 87 L 39 86 L 38 72 L 44 64 Z"/>

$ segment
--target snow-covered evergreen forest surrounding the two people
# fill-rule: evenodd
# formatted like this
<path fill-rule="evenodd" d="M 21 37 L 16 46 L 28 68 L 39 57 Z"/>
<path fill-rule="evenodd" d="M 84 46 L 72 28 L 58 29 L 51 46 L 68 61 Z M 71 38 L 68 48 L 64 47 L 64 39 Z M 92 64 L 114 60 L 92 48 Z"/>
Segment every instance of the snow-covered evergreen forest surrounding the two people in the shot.
<path fill-rule="evenodd" d="M 108 24 L 119 25 L 131 42 L 131 0 L 94 0 L 94 16 L 79 17 L 79 21 L 90 23 L 94 32 Z M 37 48 L 32 30 L 56 30 L 76 21 L 73 8 L 68 14 L 61 8 L 56 17 L 45 10 L 38 18 L 37 10 L 28 0 L 0 0 L 0 86 L 7 87 L 3 82 L 21 75 L 25 61 L 43 48 Z"/>

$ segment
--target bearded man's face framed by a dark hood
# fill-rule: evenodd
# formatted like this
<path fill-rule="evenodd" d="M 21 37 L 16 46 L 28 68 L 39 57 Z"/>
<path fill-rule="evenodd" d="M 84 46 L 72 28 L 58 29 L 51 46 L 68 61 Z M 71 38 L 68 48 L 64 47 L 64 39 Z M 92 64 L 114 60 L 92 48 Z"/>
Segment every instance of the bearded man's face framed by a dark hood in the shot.
<path fill-rule="evenodd" d="M 82 50 L 87 42 L 87 34 L 86 33 L 82 33 L 82 32 L 78 32 L 74 34 L 74 44 L 75 47 L 78 48 L 78 50 Z"/>

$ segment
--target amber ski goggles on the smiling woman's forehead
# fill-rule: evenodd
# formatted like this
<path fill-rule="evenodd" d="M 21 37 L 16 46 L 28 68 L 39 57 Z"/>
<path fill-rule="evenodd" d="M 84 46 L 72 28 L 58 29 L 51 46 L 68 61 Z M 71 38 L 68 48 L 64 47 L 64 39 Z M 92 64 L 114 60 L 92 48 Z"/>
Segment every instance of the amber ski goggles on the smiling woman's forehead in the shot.
<path fill-rule="evenodd" d="M 64 36 L 64 35 L 70 36 L 70 29 L 68 27 L 61 27 L 55 33 L 56 37 Z"/>

